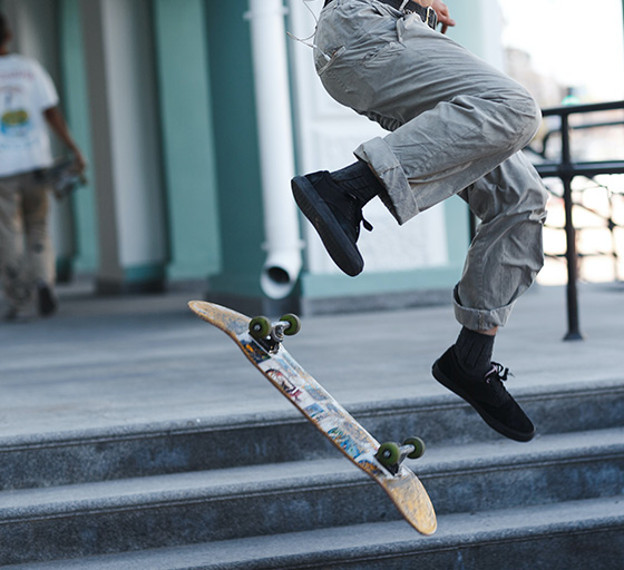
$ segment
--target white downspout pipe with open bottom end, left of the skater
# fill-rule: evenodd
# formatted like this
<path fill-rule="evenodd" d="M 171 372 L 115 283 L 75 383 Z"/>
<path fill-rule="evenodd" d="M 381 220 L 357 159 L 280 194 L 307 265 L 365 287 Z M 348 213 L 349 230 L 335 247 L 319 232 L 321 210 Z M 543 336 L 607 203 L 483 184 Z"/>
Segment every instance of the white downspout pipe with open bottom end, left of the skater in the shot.
<path fill-rule="evenodd" d="M 285 8 L 282 0 L 250 0 L 252 57 L 261 161 L 266 261 L 261 274 L 264 294 L 286 297 L 301 272 L 299 218 L 290 181 L 294 148 L 286 58 Z"/>

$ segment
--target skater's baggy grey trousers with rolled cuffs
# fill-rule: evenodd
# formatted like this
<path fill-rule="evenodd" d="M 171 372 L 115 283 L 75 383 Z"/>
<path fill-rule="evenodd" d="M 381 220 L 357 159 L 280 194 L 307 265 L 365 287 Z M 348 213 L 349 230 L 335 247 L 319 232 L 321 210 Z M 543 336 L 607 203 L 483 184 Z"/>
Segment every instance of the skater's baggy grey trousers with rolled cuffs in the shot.
<path fill-rule="evenodd" d="M 539 125 L 534 99 L 417 14 L 377 0 L 333 0 L 314 42 L 326 91 L 391 131 L 355 156 L 398 223 L 455 194 L 479 217 L 455 313 L 468 328 L 504 325 L 544 263 L 547 194 L 518 153 Z"/>

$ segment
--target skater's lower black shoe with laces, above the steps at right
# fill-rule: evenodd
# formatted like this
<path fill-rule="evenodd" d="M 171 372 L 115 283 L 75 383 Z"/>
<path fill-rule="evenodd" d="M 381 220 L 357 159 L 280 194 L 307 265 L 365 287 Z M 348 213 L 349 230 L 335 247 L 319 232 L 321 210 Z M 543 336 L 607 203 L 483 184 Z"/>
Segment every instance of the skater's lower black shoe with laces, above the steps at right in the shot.
<path fill-rule="evenodd" d="M 498 433 L 516 441 L 530 441 L 535 426 L 505 390 L 508 368 L 493 362 L 485 377 L 467 376 L 459 367 L 452 346 L 433 364 L 433 377 L 468 402 Z"/>

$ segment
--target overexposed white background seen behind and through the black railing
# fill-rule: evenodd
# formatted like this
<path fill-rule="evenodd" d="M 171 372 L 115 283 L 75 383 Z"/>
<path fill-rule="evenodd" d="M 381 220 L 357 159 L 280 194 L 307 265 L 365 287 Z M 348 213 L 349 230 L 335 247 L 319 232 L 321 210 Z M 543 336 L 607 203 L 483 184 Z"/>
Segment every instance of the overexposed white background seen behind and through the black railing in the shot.
<path fill-rule="evenodd" d="M 585 4 L 577 0 L 529 0 L 523 3 L 500 0 L 499 3 L 505 69 L 532 91 L 543 108 L 622 99 L 624 50 L 620 1 L 597 2 L 592 7 L 596 12 L 587 17 Z M 574 158 L 622 159 L 623 117 L 622 110 L 574 117 Z M 556 153 L 557 142 L 552 140 L 550 132 L 557 127 L 556 119 L 547 118 L 533 148 L 546 150 L 546 154 Z M 574 223 L 577 228 L 583 228 L 577 236 L 582 254 L 581 277 L 588 282 L 622 281 L 624 266 L 618 258 L 624 246 L 622 177 L 578 177 L 573 183 L 578 204 Z M 549 179 L 547 184 L 555 194 L 545 230 L 545 248 L 550 256 L 539 282 L 563 284 L 567 279 L 562 257 L 565 236 L 555 229 L 564 224 L 564 205 L 558 198 L 563 190 L 559 181 Z"/>

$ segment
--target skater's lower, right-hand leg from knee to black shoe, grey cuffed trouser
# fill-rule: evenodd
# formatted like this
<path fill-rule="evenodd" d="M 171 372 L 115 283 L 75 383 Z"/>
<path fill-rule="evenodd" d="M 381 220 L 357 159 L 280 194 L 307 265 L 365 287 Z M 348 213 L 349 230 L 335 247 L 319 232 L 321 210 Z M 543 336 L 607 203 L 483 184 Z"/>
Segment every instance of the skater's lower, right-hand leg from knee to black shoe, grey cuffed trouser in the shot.
<path fill-rule="evenodd" d="M 494 335 L 544 263 L 542 227 L 547 194 L 535 169 L 517 154 L 461 193 L 481 224 L 454 292 L 462 326 L 433 365 L 433 376 L 470 403 L 499 433 L 528 441 L 533 423 L 508 394 L 507 370 L 491 362 Z"/>

